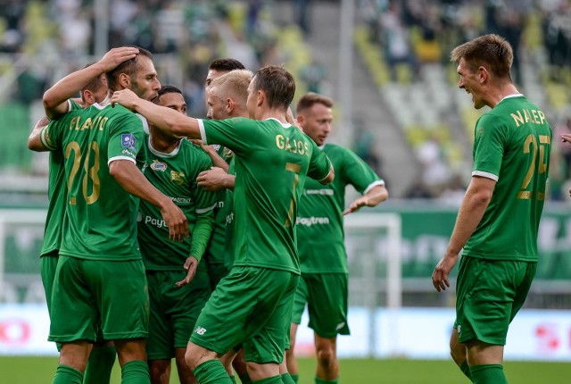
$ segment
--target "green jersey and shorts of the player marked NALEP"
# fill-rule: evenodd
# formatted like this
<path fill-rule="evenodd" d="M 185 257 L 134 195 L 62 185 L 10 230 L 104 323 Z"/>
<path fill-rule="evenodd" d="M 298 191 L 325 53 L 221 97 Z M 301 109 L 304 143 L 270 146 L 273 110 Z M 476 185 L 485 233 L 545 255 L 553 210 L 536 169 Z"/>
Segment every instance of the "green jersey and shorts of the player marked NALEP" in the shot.
<path fill-rule="evenodd" d="M 476 122 L 472 176 L 497 183 L 459 264 L 461 343 L 505 345 L 509 322 L 525 302 L 538 260 L 550 148 L 545 114 L 522 95 L 504 97 Z"/>

